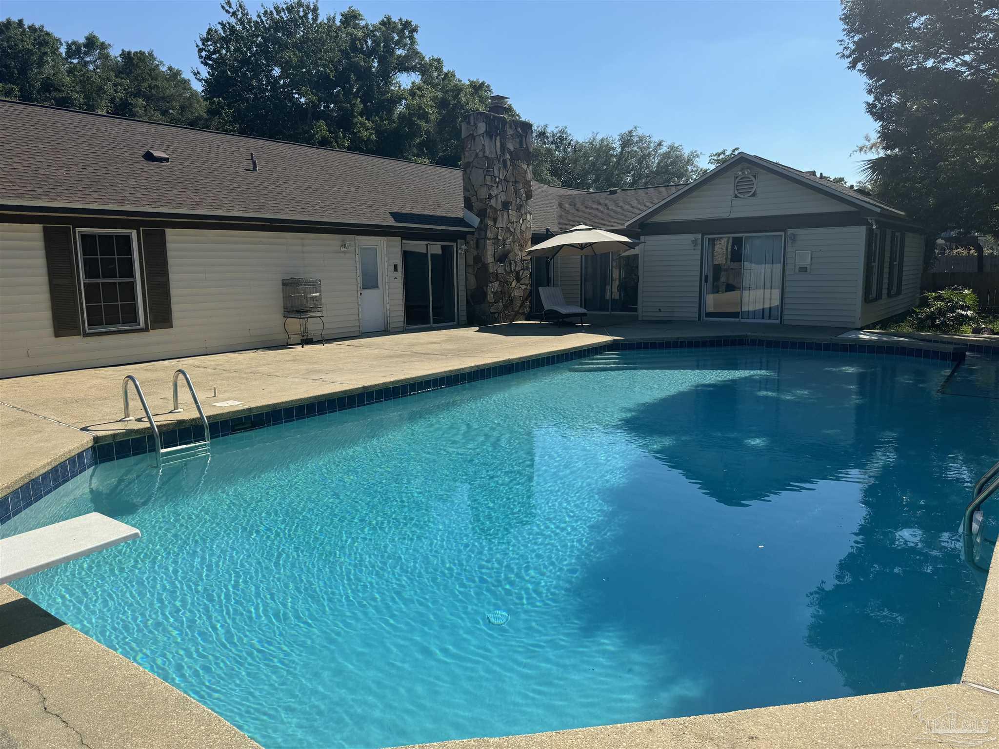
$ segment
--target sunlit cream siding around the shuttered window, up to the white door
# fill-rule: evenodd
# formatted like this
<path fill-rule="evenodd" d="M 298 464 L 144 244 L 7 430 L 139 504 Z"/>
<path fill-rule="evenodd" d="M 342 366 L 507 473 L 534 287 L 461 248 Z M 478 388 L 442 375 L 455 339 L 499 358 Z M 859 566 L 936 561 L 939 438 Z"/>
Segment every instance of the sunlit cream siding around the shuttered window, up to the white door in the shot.
<path fill-rule="evenodd" d="M 340 249 L 345 240 L 355 246 L 335 235 L 168 230 L 173 328 L 57 339 L 42 228 L 0 225 L 0 376 L 282 345 L 289 276 L 322 279 L 326 338 L 356 336 L 357 257 Z"/>

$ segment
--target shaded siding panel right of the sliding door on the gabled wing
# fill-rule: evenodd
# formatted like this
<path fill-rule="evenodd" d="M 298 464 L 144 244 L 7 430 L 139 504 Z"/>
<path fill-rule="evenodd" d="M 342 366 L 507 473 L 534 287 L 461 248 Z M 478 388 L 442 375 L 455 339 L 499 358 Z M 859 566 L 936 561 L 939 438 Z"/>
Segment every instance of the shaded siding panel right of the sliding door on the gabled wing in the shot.
<path fill-rule="evenodd" d="M 855 328 L 861 294 L 864 227 L 795 229 L 784 262 L 782 322 Z M 811 270 L 797 273 L 794 254 L 811 251 Z"/>

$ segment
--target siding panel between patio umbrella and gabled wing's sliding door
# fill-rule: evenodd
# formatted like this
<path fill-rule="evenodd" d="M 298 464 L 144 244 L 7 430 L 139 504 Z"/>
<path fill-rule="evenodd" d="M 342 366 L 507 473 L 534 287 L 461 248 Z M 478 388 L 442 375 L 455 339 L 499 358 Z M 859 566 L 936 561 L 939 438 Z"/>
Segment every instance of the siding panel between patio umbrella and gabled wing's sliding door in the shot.
<path fill-rule="evenodd" d="M 640 320 L 697 320 L 700 311 L 699 234 L 642 237 Z"/>

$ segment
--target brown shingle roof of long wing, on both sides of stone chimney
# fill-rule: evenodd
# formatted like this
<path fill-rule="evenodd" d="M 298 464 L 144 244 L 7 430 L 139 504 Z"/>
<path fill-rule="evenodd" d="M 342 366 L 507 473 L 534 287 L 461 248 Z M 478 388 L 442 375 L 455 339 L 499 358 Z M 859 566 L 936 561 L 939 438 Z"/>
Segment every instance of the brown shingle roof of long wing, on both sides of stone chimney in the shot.
<path fill-rule="evenodd" d="M 144 160 L 147 150 L 170 162 Z M 534 230 L 620 227 L 679 187 L 610 194 L 534 183 Z M 0 204 L 468 227 L 460 169 L 9 100 L 0 100 Z"/>

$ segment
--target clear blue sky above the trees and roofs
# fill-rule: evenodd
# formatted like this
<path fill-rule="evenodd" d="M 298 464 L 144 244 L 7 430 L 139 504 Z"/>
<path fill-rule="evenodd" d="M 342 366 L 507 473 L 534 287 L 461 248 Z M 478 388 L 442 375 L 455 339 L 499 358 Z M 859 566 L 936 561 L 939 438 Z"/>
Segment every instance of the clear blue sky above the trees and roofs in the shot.
<path fill-rule="evenodd" d="M 638 125 L 704 154 L 739 146 L 854 181 L 861 157 L 850 152 L 874 131 L 863 79 L 836 56 L 838 2 L 353 4 L 372 20 L 413 19 L 426 54 L 577 136 Z M 95 31 L 116 49 L 153 49 L 184 71 L 198 64 L 198 35 L 223 16 L 201 0 L 3 0 L 0 11 L 64 41 Z"/>

